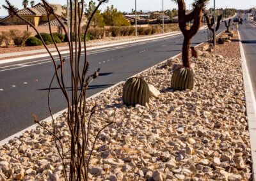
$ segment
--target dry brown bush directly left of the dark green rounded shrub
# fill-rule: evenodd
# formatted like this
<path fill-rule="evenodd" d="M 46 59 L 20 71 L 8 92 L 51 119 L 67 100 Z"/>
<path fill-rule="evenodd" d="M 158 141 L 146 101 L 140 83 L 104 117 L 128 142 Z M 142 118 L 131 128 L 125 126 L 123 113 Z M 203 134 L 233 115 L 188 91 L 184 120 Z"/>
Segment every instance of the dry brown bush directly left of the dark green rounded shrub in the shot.
<path fill-rule="evenodd" d="M 12 29 L 10 30 L 10 36 L 13 40 L 14 45 L 17 45 L 18 47 L 21 47 L 24 45 L 25 41 L 31 33 L 29 31 L 19 31 L 18 29 Z"/>

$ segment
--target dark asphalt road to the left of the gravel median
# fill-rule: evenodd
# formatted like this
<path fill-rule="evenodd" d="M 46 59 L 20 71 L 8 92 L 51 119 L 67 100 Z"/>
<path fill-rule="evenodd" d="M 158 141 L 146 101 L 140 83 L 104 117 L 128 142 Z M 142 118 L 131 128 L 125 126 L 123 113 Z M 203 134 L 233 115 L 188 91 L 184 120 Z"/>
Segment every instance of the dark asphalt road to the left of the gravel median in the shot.
<path fill-rule="evenodd" d="M 220 31 L 225 25 L 221 24 Z M 198 31 L 192 46 L 207 38 Z M 100 68 L 100 76 L 88 89 L 87 96 L 115 85 L 129 76 L 177 55 L 182 48 L 183 36 L 142 41 L 88 51 L 90 73 Z M 64 55 L 68 62 L 68 54 Z M 82 57 L 83 58 L 83 57 Z M 70 72 L 65 66 L 65 80 Z M 47 92 L 54 69 L 49 57 L 0 65 L 0 140 L 34 124 L 31 113 L 41 120 L 49 117 Z M 67 85 L 70 91 L 70 85 Z M 57 83 L 52 85 L 51 107 L 53 113 L 67 108 Z"/>

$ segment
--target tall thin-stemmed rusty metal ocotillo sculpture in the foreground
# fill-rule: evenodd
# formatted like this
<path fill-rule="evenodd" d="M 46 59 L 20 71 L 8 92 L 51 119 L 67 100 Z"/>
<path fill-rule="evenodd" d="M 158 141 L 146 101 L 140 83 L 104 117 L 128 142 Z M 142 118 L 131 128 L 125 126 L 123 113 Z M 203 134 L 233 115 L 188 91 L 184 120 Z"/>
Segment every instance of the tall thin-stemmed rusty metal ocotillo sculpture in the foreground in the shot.
<path fill-rule="evenodd" d="M 81 32 L 81 21 L 84 13 L 84 0 L 69 0 L 70 3 L 70 11 L 75 13 L 70 13 L 70 34 L 74 34 L 73 36 L 68 38 L 67 28 L 61 22 L 61 17 L 56 15 L 54 9 L 52 8 L 51 4 L 47 3 L 45 0 L 41 0 L 42 4 L 44 5 L 45 11 L 47 12 L 48 22 L 49 22 L 49 31 L 52 37 L 52 27 L 50 25 L 50 16 L 54 16 L 56 20 L 58 20 L 59 24 L 61 25 L 63 31 L 65 32 L 67 39 L 68 39 L 68 47 L 69 47 L 69 60 L 67 61 L 69 64 L 70 73 L 64 72 L 64 63 L 65 59 L 63 59 L 60 51 L 54 41 L 54 46 L 58 52 L 58 59 L 60 59 L 60 64 L 56 64 L 58 60 L 54 58 L 47 48 L 44 40 L 36 30 L 36 27 L 28 22 L 23 17 L 20 17 L 19 10 L 10 3 L 10 1 L 6 0 L 6 5 L 3 7 L 8 10 L 10 15 L 17 16 L 28 25 L 33 27 L 36 31 L 40 40 L 43 42 L 44 47 L 46 48 L 47 52 L 51 56 L 52 63 L 54 66 L 54 73 L 52 76 L 51 83 L 49 85 L 49 92 L 48 92 L 48 106 L 49 112 L 52 116 L 51 105 L 50 105 L 50 94 L 51 94 L 51 85 L 54 79 L 57 80 L 58 85 L 60 86 L 60 90 L 63 93 L 63 97 L 67 101 L 67 119 L 65 120 L 65 124 L 67 124 L 70 132 L 70 140 L 67 145 L 70 145 L 69 150 L 66 152 L 64 151 L 63 141 L 61 141 L 60 134 L 56 133 L 56 122 L 52 117 L 52 130 L 50 130 L 47 126 L 42 124 L 38 117 L 35 114 L 32 114 L 35 122 L 40 124 L 44 129 L 49 131 L 49 133 L 54 138 L 54 143 L 56 145 L 56 149 L 58 154 L 61 158 L 62 165 L 63 165 L 63 177 L 67 180 L 88 180 L 88 170 L 90 164 L 90 158 L 92 156 L 92 152 L 95 147 L 95 143 L 99 136 L 99 133 L 107 126 L 112 124 L 110 122 L 106 124 L 106 126 L 100 128 L 97 127 L 98 133 L 96 135 L 90 134 L 90 121 L 93 117 L 93 113 L 97 110 L 97 106 L 93 106 L 90 111 L 87 111 L 88 108 L 86 107 L 86 89 L 90 85 L 90 83 L 99 76 L 99 69 L 93 73 L 93 75 L 87 75 L 89 63 L 86 57 L 86 33 L 88 31 L 88 27 L 90 22 L 92 21 L 92 17 L 95 12 L 98 10 L 99 6 L 102 3 L 106 3 L 106 0 L 98 0 L 99 3 L 97 7 L 93 11 L 91 17 L 88 19 L 88 24 L 86 25 L 85 31 Z M 81 35 L 84 35 L 84 40 L 81 40 Z M 72 43 L 75 40 L 75 43 Z M 78 40 L 78 41 L 77 41 Z M 81 56 L 82 54 L 82 41 L 84 41 L 84 57 Z M 68 82 L 68 86 L 71 85 L 72 91 L 70 94 L 68 93 L 66 86 L 67 82 L 65 82 L 64 76 L 70 76 L 71 82 Z M 94 137 L 94 141 L 92 143 L 92 147 L 90 147 L 90 138 Z M 67 142 L 67 141 L 66 141 Z M 67 164 L 68 163 L 68 164 Z"/>

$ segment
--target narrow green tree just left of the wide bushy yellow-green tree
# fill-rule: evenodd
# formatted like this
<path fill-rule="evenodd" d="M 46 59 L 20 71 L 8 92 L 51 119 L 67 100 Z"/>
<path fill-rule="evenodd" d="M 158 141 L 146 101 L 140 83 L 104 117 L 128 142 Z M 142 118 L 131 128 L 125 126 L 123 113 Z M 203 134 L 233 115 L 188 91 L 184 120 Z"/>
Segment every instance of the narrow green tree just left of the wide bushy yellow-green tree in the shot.
<path fill-rule="evenodd" d="M 88 4 L 88 8 L 85 8 L 84 15 L 86 15 L 87 18 L 90 17 L 93 13 L 93 10 L 95 10 L 95 8 L 96 8 L 96 3 L 91 0 Z M 97 10 L 93 15 L 92 25 L 93 27 L 104 27 L 104 18 L 100 14 L 100 10 Z"/>

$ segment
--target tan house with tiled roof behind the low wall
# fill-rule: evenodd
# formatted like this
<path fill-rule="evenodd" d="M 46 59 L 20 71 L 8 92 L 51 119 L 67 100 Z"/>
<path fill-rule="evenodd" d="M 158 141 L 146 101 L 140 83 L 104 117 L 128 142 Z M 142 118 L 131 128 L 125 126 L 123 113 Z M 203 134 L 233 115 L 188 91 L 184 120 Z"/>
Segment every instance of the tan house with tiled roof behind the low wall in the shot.
<path fill-rule="evenodd" d="M 61 22 L 66 24 L 67 20 L 63 17 L 63 13 L 65 13 L 65 10 L 63 10 L 61 4 L 51 4 L 51 6 L 54 9 L 54 12 L 56 13 L 56 15 L 60 16 Z M 24 8 L 22 10 L 19 10 L 18 14 L 20 15 L 20 17 L 28 20 L 28 22 L 31 22 L 31 24 L 35 25 L 35 27 L 47 26 L 49 24 L 47 13 L 42 3 L 38 3 L 32 8 Z M 17 16 L 9 15 L 8 17 L 1 19 L 0 24 L 1 25 L 26 25 L 26 22 L 24 22 Z M 50 24 L 52 26 L 60 25 L 58 20 L 56 20 L 56 18 L 54 17 L 54 15 L 50 15 Z"/>

